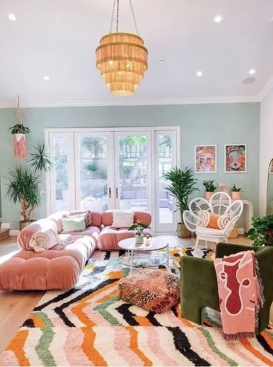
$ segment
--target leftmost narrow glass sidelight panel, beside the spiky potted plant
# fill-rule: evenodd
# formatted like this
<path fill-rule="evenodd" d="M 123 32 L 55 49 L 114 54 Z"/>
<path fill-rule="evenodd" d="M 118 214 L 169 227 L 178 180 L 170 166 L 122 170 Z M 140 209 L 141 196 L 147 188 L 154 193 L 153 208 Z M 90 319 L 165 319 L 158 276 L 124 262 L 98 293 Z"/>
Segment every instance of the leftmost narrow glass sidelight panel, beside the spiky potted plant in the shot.
<path fill-rule="evenodd" d="M 73 134 L 49 133 L 49 151 L 54 163 L 50 170 L 50 212 L 74 209 L 74 173 L 68 169 L 74 164 Z"/>

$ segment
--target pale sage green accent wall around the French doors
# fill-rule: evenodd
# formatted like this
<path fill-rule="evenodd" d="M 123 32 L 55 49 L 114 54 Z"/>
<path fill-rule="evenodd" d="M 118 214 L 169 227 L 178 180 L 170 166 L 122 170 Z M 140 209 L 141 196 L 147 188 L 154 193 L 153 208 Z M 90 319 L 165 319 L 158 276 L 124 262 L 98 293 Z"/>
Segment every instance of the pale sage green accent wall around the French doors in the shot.
<path fill-rule="evenodd" d="M 181 167 L 194 168 L 194 145 L 217 144 L 217 173 L 197 174 L 200 193 L 204 196 L 204 179 L 215 179 L 217 185 L 236 184 L 243 188 L 242 197 L 253 203 L 258 215 L 259 201 L 259 103 L 189 104 L 156 106 L 100 106 L 24 108 L 23 121 L 32 134 L 27 136 L 28 151 L 44 140 L 45 128 L 116 128 L 180 126 Z M 0 172 L 2 220 L 18 228 L 20 207 L 6 199 L 6 176 L 14 167 L 13 138 L 8 131 L 15 124 L 16 109 L 0 110 Z M 224 144 L 247 144 L 247 173 L 224 173 Z M 36 219 L 46 215 L 45 205 L 37 210 Z"/>

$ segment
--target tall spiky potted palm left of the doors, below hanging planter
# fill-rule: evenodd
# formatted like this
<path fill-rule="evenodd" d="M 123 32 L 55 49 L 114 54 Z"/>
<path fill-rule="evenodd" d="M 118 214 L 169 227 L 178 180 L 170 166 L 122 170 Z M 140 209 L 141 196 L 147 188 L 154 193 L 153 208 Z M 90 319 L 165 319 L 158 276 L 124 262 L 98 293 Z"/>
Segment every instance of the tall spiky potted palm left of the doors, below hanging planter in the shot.
<path fill-rule="evenodd" d="M 24 165 L 9 170 L 7 197 L 14 204 L 20 203 L 21 205 L 23 220 L 19 222 L 20 230 L 32 221 L 31 215 L 41 205 L 42 174 L 47 172 L 52 165 L 48 154 L 45 153 L 45 145 L 38 144 L 37 147 L 34 147 L 34 153 L 29 154 Z"/>

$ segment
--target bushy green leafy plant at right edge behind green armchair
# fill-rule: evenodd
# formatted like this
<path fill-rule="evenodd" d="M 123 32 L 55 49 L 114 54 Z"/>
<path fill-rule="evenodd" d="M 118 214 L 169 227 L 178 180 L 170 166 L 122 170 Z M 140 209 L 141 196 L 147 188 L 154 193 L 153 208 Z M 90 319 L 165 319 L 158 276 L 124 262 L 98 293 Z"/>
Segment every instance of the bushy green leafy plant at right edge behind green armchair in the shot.
<path fill-rule="evenodd" d="M 273 246 L 273 215 L 252 218 L 252 223 L 247 237 L 253 240 L 253 246 Z"/>

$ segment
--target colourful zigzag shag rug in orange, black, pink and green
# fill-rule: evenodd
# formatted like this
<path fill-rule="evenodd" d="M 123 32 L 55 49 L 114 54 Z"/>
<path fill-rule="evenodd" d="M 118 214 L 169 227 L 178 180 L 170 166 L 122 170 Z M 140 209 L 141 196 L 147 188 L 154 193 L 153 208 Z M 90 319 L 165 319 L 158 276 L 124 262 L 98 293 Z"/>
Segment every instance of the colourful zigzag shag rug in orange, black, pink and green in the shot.
<path fill-rule="evenodd" d="M 180 255 L 192 254 L 190 248 L 171 249 L 172 271 L 179 272 Z M 179 305 L 154 314 L 120 300 L 117 283 L 129 269 L 118 255 L 96 251 L 74 289 L 46 292 L 0 365 L 273 365 L 271 326 L 257 338 L 225 341 L 214 311 L 207 311 L 199 326 L 181 318 Z M 213 257 L 209 250 L 198 255 Z"/>

